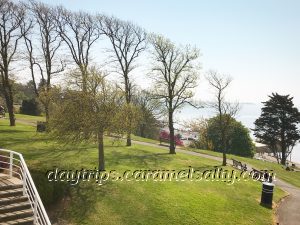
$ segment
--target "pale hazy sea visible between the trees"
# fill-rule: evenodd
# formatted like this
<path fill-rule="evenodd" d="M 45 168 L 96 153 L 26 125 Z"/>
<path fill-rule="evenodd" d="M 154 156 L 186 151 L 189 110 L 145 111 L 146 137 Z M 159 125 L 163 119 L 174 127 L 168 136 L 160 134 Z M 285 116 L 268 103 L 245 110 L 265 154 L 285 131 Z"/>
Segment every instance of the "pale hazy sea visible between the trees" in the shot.
<path fill-rule="evenodd" d="M 262 104 L 257 103 L 241 103 L 240 110 L 236 115 L 236 119 L 244 124 L 247 128 L 250 129 L 251 137 L 255 140 L 253 135 L 254 121 L 260 116 L 261 108 L 263 107 Z M 210 118 L 216 115 L 216 112 L 212 108 L 194 108 L 192 106 L 185 106 L 184 108 L 180 109 L 175 114 L 175 119 L 178 121 L 178 127 L 184 127 L 184 124 L 198 118 Z M 290 160 L 290 157 L 289 157 Z M 300 163 L 300 142 L 294 147 L 293 152 L 291 154 L 291 161 Z"/>

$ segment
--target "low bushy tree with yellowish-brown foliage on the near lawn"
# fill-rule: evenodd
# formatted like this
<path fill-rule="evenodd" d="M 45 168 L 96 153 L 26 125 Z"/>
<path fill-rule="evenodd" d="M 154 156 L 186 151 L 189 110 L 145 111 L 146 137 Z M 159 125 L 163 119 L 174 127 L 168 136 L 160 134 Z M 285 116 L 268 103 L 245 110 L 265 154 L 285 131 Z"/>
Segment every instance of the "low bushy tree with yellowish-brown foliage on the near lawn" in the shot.
<path fill-rule="evenodd" d="M 105 170 L 104 133 L 120 132 L 124 109 L 119 91 L 105 80 L 98 69 L 88 71 L 87 92 L 66 89 L 53 99 L 49 127 L 53 136 L 63 141 L 94 140 L 98 143 L 99 170 Z M 122 124 L 123 127 L 123 124 Z"/>

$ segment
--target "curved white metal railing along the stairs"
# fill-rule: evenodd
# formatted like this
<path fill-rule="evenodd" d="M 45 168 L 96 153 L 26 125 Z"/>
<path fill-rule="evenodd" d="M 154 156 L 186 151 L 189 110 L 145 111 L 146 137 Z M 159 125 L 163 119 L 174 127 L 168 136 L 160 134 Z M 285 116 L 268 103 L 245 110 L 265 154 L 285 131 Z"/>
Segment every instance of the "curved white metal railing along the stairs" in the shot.
<path fill-rule="evenodd" d="M 31 204 L 34 224 L 51 225 L 23 155 L 18 152 L 0 149 L 0 169 L 10 178 L 17 177 L 23 181 L 23 194 L 28 197 Z"/>

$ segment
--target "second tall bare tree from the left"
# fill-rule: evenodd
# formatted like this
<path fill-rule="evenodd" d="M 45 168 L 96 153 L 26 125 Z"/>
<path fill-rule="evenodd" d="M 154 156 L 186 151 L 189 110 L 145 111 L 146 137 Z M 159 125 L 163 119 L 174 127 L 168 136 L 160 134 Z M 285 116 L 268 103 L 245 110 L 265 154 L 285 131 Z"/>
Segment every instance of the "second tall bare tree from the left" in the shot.
<path fill-rule="evenodd" d="M 50 88 L 51 79 L 54 75 L 62 72 L 65 64 L 58 53 L 62 39 L 56 31 L 57 18 L 55 8 L 40 2 L 30 1 L 27 6 L 31 17 L 29 22 L 34 22 L 35 28 L 30 34 L 24 35 L 29 61 L 30 72 L 34 84 L 35 93 L 45 108 L 46 121 L 49 120 Z M 27 22 L 27 23 L 29 23 Z M 24 23 L 26 26 L 26 22 Z M 39 49 L 40 52 L 34 52 Z M 36 69 L 35 69 L 36 67 Z M 36 75 L 41 77 L 42 85 L 37 88 Z"/>

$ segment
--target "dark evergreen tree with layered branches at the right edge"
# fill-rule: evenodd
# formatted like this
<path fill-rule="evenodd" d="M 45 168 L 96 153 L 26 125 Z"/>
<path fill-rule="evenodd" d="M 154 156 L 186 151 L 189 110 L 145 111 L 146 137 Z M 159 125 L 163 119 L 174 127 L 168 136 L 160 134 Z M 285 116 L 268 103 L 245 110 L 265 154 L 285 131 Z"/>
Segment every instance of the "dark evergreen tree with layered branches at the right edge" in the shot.
<path fill-rule="evenodd" d="M 300 139 L 297 124 L 299 110 L 294 107 L 293 97 L 272 93 L 263 102 L 260 117 L 255 121 L 254 135 L 274 153 L 278 163 L 285 165 L 287 157 Z"/>

